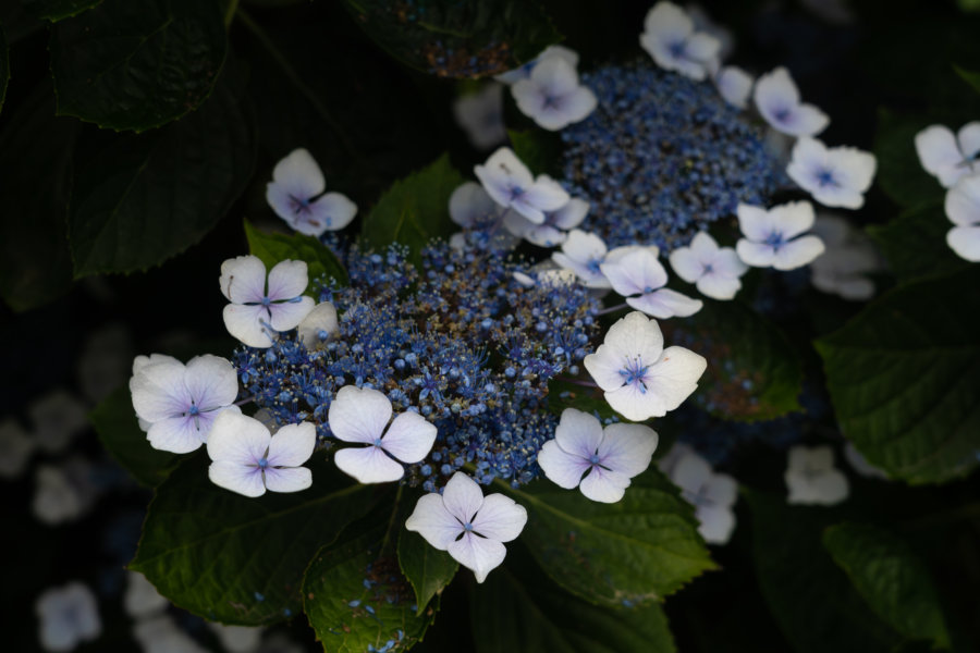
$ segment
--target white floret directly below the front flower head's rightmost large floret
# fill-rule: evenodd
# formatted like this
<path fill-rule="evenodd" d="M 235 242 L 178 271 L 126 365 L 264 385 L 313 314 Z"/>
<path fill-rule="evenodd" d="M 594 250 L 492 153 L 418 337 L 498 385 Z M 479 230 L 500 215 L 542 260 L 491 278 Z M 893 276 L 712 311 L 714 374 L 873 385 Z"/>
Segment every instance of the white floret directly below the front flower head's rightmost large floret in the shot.
<path fill-rule="evenodd" d="M 554 440 L 538 452 L 538 465 L 559 488 L 579 488 L 587 498 L 615 503 L 629 479 L 649 467 L 657 442 L 649 427 L 613 423 L 603 429 L 588 412 L 565 408 Z"/>

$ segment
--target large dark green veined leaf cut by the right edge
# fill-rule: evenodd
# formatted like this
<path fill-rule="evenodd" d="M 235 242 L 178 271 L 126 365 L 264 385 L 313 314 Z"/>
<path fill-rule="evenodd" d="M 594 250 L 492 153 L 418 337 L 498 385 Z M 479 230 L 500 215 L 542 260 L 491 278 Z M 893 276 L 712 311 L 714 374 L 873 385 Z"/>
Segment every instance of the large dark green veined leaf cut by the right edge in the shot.
<path fill-rule="evenodd" d="M 817 341 L 844 434 L 910 483 L 969 473 L 980 448 L 980 268 L 896 288 Z"/>

